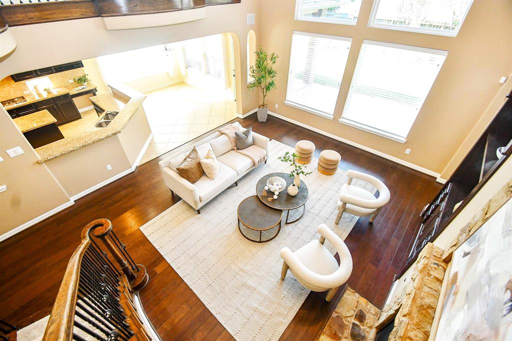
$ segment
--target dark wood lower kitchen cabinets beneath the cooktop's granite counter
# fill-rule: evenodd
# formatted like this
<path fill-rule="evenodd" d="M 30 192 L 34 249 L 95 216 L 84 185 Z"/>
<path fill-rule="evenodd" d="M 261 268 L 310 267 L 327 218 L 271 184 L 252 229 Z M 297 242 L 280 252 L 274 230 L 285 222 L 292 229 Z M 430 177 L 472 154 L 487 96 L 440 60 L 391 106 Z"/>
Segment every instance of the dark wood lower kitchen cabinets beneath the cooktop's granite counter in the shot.
<path fill-rule="evenodd" d="M 48 110 L 57 120 L 57 125 L 68 123 L 81 118 L 75 102 L 70 94 L 63 94 L 52 98 L 40 100 L 35 103 L 18 106 L 18 108 L 8 110 L 12 118 L 25 116 L 41 110 Z"/>

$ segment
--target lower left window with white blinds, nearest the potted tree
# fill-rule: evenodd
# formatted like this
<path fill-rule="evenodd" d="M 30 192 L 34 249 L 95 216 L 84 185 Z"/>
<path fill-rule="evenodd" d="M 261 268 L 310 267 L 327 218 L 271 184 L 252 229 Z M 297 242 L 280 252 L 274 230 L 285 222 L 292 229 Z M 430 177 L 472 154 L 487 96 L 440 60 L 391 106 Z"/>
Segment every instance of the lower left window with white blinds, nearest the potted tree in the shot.
<path fill-rule="evenodd" d="M 286 104 L 332 118 L 352 39 L 293 32 Z"/>

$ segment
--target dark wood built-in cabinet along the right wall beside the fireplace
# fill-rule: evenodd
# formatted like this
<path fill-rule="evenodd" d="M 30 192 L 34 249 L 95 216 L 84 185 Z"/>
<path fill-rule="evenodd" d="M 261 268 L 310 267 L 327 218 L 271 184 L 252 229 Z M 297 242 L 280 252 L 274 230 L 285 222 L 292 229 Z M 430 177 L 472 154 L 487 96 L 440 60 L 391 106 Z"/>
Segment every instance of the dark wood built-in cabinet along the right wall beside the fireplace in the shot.
<path fill-rule="evenodd" d="M 450 179 L 434 200 L 424 206 L 420 214 L 421 223 L 416 239 L 408 253 L 406 265 L 401 269 L 398 277 L 414 263 L 423 247 L 439 236 L 512 154 L 510 143 L 512 140 L 512 98 L 510 95 L 507 97 L 501 110 Z M 508 148 L 504 156 L 498 158 L 496 150 L 498 147 L 504 146 L 508 146 Z M 460 204 L 456 207 L 458 203 Z"/>

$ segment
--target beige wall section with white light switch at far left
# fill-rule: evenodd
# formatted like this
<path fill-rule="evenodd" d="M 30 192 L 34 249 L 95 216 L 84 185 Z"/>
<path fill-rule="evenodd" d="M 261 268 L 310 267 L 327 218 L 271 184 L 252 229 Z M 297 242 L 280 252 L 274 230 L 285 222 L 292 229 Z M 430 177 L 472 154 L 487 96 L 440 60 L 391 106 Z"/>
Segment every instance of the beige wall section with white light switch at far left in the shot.
<path fill-rule="evenodd" d="M 20 146 L 25 152 L 10 158 L 6 150 Z M 65 191 L 27 139 L 15 127 L 4 108 L 0 109 L 0 236 L 70 201 Z"/>

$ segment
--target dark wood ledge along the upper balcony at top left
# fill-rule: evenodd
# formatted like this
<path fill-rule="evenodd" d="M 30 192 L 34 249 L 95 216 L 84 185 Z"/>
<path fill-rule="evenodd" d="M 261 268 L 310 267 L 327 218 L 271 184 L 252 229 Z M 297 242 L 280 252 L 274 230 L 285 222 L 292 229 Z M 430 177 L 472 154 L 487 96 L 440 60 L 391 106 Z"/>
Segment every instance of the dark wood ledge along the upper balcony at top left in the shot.
<path fill-rule="evenodd" d="M 93 17 L 154 14 L 241 0 L 67 0 L 0 6 L 0 25 L 20 26 Z"/>

